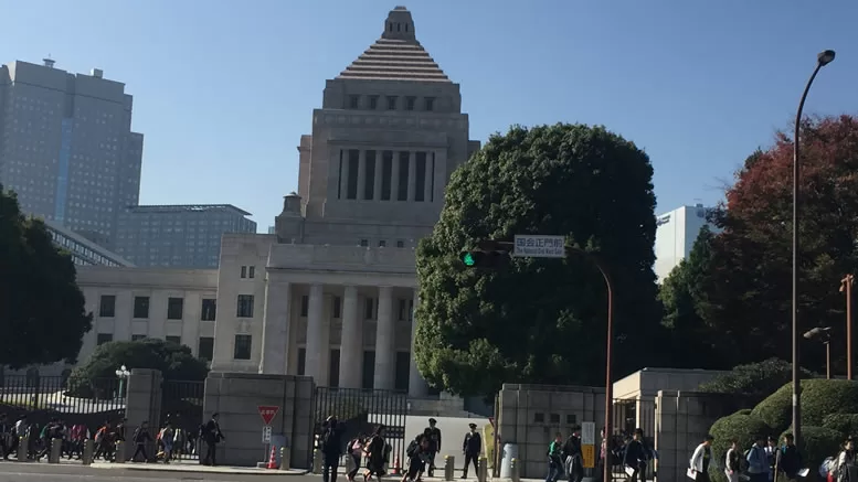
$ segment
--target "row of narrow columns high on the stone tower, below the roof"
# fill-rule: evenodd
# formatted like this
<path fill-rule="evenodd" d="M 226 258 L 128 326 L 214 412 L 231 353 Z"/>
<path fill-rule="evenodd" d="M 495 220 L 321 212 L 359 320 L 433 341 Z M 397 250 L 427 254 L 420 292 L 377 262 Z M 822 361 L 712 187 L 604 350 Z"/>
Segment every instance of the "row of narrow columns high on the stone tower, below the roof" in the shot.
<path fill-rule="evenodd" d="M 348 152 L 348 151 L 346 151 Z M 372 199 L 366 199 L 366 185 L 367 185 L 367 151 L 361 149 L 358 151 L 358 192 L 357 192 L 357 199 L 359 201 L 381 201 L 381 185 L 382 185 L 382 175 L 383 175 L 383 159 L 384 153 L 390 152 L 391 153 L 391 174 L 390 174 L 390 200 L 391 201 L 398 201 L 399 200 L 399 189 L 400 189 L 400 152 L 405 151 L 383 151 L 383 150 L 375 150 L 375 169 L 373 173 L 373 189 L 372 189 Z M 407 194 L 405 201 L 416 201 L 416 191 L 417 191 L 417 152 L 415 151 L 407 151 L 409 152 L 409 180 L 407 180 Z M 425 152 L 426 154 L 426 162 L 425 162 L 425 175 L 423 181 L 423 201 L 424 202 L 431 202 L 432 201 L 432 186 L 433 182 L 432 179 L 434 178 L 434 170 L 433 170 L 433 162 L 432 162 L 432 152 Z M 342 163 L 342 170 L 340 173 L 340 193 L 342 193 L 342 197 L 347 197 L 347 194 L 349 192 L 349 169 L 351 162 L 349 162 L 349 159 L 346 159 L 346 162 Z"/>

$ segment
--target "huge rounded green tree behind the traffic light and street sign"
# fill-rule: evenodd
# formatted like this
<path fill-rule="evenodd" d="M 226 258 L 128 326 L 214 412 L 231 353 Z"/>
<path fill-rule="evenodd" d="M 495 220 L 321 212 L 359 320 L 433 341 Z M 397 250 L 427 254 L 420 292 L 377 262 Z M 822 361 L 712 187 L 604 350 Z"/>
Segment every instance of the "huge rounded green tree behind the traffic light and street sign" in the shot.
<path fill-rule="evenodd" d="M 615 300 L 615 373 L 652 362 L 659 335 L 649 158 L 604 127 L 513 127 L 452 175 L 417 248 L 415 357 L 434 386 L 488 395 L 510 383 L 601 384 L 606 292 L 592 261 L 516 258 L 480 272 L 458 259 L 479 239 L 564 235 L 597 253 Z"/>

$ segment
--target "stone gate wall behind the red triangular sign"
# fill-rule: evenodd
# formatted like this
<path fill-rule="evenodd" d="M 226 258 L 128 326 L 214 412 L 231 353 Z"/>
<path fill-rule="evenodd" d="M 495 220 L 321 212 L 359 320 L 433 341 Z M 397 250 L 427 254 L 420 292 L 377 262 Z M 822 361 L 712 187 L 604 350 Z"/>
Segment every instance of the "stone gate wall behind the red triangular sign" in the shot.
<path fill-rule="evenodd" d="M 308 469 L 313 437 L 315 385 L 308 376 L 210 373 L 205 379 L 204 416 L 220 414 L 225 443 L 218 447 L 218 463 L 255 465 L 268 454 L 262 442 L 259 406 L 278 406 L 272 420 L 274 436 L 286 437 L 290 464 Z"/>

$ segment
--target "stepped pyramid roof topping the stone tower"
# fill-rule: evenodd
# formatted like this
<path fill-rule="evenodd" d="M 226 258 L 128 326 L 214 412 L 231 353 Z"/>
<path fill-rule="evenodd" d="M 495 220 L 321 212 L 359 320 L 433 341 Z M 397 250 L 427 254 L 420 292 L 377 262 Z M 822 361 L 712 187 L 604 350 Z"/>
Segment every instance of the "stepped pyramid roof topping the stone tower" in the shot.
<path fill-rule="evenodd" d="M 381 38 L 337 78 L 452 83 L 417 42 L 414 20 L 405 7 L 396 7 L 388 13 Z"/>

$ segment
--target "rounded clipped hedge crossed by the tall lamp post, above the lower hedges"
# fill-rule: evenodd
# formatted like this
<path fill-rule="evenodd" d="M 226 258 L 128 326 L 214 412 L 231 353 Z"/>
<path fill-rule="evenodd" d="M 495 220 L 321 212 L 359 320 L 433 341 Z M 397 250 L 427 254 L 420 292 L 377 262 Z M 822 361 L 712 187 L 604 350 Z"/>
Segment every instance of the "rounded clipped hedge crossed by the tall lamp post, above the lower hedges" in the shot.
<path fill-rule="evenodd" d="M 756 405 L 751 415 L 774 431 L 786 430 L 792 422 L 793 384 L 782 386 Z M 823 425 L 830 414 L 858 414 L 858 382 L 846 379 L 802 381 L 802 425 Z"/>

